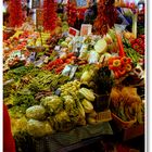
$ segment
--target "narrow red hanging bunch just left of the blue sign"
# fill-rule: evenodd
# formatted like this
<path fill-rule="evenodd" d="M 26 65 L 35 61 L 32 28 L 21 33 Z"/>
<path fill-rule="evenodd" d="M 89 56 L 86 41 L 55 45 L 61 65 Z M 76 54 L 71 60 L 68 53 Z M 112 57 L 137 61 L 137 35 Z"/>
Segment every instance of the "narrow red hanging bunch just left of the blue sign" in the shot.
<path fill-rule="evenodd" d="M 67 22 L 69 26 L 74 26 L 76 18 L 77 18 L 77 9 L 76 3 L 74 2 L 67 2 Z"/>

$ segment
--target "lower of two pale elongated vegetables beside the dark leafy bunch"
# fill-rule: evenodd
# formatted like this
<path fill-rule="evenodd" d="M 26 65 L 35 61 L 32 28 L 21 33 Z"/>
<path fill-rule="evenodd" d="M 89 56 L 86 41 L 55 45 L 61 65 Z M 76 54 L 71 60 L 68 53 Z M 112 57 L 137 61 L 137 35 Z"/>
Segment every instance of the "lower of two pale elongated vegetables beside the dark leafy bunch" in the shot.
<path fill-rule="evenodd" d="M 81 104 L 84 106 L 85 113 L 90 113 L 93 111 L 93 105 L 90 101 L 84 99 Z"/>

